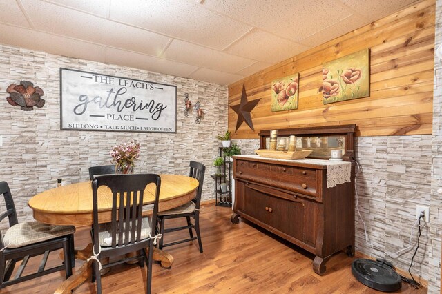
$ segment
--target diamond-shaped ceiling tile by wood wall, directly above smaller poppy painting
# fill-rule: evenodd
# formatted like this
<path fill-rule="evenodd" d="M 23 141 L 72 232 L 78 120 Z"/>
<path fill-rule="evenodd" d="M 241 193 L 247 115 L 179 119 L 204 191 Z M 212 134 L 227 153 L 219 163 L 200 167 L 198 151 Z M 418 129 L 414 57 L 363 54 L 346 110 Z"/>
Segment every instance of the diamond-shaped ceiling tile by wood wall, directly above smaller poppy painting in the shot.
<path fill-rule="evenodd" d="M 233 43 L 225 51 L 234 55 L 275 64 L 307 49 L 309 47 L 255 29 L 236 43 Z"/>

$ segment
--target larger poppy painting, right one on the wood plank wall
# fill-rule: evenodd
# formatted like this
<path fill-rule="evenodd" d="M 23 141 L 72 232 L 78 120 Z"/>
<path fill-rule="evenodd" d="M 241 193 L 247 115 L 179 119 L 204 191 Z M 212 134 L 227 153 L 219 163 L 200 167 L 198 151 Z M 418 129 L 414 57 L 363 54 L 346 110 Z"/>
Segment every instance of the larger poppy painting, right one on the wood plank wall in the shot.
<path fill-rule="evenodd" d="M 369 49 L 323 64 L 324 104 L 368 97 Z"/>

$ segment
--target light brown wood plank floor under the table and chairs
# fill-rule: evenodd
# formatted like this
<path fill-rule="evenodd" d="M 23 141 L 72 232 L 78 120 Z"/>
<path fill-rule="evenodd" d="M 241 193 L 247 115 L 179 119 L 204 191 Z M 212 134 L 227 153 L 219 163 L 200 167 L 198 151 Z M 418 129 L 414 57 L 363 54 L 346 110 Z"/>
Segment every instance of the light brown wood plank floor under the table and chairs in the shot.
<path fill-rule="evenodd" d="M 171 269 L 153 264 L 153 293 L 382 293 L 367 288 L 352 275 L 352 258 L 338 253 L 327 262 L 327 272 L 316 275 L 311 268 L 314 255 L 260 230 L 250 223 L 230 222 L 231 209 L 205 205 L 201 214 L 202 244 L 167 247 L 175 257 Z M 173 222 L 173 221 L 171 221 Z M 167 223 L 166 223 L 167 224 Z M 184 224 L 184 223 L 183 223 Z M 175 233 L 183 235 L 186 231 Z M 174 237 L 174 236 L 172 236 Z M 171 239 L 166 235 L 167 239 Z M 79 228 L 75 246 L 90 240 L 88 228 Z M 39 260 L 35 261 L 38 264 Z M 58 254 L 50 263 L 58 262 Z M 76 268 L 82 262 L 77 262 Z M 64 280 L 64 272 L 9 286 L 1 293 L 53 293 Z M 102 277 L 103 293 L 144 293 L 146 267 L 123 264 Z M 86 282 L 74 293 L 95 293 Z M 427 293 L 402 285 L 397 293 Z"/>

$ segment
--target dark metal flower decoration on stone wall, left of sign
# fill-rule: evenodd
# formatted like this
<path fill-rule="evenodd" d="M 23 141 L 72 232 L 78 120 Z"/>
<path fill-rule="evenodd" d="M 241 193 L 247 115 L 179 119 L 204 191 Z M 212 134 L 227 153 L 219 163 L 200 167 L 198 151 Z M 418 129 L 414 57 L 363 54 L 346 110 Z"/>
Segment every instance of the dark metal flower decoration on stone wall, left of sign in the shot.
<path fill-rule="evenodd" d="M 44 95 L 40 87 L 34 87 L 30 81 L 20 81 L 20 84 L 10 84 L 6 90 L 10 97 L 6 101 L 12 106 L 20 106 L 21 110 L 30 111 L 34 106 L 42 108 L 46 101 L 41 99 Z"/>

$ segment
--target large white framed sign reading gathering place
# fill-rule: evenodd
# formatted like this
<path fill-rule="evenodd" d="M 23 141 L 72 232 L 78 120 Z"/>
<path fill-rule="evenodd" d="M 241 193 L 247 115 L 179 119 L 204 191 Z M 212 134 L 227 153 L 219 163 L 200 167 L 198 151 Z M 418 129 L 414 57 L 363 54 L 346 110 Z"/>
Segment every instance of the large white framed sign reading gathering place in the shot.
<path fill-rule="evenodd" d="M 176 133 L 177 87 L 60 68 L 61 130 Z"/>

